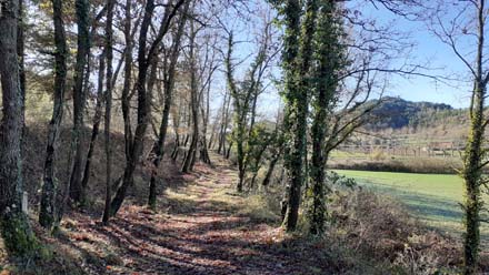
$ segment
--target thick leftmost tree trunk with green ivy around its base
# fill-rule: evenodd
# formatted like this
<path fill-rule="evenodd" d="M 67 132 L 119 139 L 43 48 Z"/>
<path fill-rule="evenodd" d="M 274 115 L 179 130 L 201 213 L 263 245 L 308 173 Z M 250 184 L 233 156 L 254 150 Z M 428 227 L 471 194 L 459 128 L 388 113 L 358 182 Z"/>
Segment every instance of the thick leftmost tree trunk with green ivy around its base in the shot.
<path fill-rule="evenodd" d="M 17 55 L 19 1 L 0 2 L 0 227 L 7 249 L 24 256 L 33 253 L 38 242 L 22 212 L 22 92 Z"/>

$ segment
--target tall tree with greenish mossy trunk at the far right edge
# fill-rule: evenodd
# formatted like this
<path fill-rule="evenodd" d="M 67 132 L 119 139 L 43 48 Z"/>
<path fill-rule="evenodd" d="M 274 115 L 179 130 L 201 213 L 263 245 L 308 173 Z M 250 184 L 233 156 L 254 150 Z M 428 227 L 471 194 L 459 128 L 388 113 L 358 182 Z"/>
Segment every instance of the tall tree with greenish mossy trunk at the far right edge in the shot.
<path fill-rule="evenodd" d="M 433 1 L 421 10 L 421 19 L 428 22 L 428 29 L 465 64 L 472 82 L 470 125 L 461 171 L 465 183 L 463 273 L 467 275 L 478 272 L 480 212 L 483 205 L 481 189 L 487 183 L 482 170 L 489 163 L 485 147 L 485 132 L 489 124 L 489 118 L 485 112 L 489 82 L 489 55 L 486 52 L 487 13 L 486 0 Z"/>

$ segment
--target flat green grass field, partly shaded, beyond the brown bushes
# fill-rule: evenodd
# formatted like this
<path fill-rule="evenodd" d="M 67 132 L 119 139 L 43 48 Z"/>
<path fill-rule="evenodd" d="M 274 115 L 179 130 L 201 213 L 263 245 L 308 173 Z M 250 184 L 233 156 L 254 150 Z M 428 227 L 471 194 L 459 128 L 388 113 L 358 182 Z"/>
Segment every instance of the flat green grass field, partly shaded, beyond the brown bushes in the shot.
<path fill-rule="evenodd" d="M 360 186 L 399 198 L 428 226 L 460 236 L 463 182 L 458 175 L 336 170 Z M 485 195 L 489 203 L 489 196 Z M 489 247 L 489 224 L 481 225 L 481 241 Z"/>

